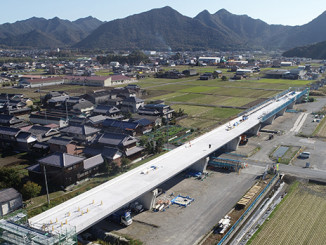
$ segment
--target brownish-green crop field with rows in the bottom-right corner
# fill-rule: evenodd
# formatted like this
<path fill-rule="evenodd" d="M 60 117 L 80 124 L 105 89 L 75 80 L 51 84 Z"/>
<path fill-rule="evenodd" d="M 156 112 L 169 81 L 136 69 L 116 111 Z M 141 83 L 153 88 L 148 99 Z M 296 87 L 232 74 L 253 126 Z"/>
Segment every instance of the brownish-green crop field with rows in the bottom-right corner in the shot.
<path fill-rule="evenodd" d="M 248 244 L 325 244 L 326 187 L 295 183 L 292 188 Z"/>

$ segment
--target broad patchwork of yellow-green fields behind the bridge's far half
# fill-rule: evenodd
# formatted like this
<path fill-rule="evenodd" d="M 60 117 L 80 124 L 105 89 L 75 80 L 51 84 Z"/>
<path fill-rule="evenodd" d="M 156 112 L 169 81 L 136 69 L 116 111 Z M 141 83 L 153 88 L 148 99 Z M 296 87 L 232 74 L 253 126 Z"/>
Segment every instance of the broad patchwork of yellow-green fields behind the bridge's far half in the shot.
<path fill-rule="evenodd" d="M 212 72 L 215 67 L 193 67 L 197 72 Z M 179 71 L 189 67 L 173 67 Z M 168 69 L 167 69 L 168 70 Z M 226 76 L 233 75 L 222 70 Z M 174 110 L 183 109 L 188 118 L 178 121 L 184 127 L 202 129 L 217 126 L 226 116 L 223 107 L 233 107 L 226 113 L 228 117 L 241 112 L 239 108 L 253 106 L 256 101 L 271 98 L 289 87 L 302 87 L 312 81 L 252 78 L 240 81 L 222 81 L 222 79 L 199 80 L 199 76 L 182 79 L 150 78 L 140 80 L 138 85 L 147 91 L 144 99 L 163 100 Z M 227 108 L 229 109 L 229 108 Z"/>

